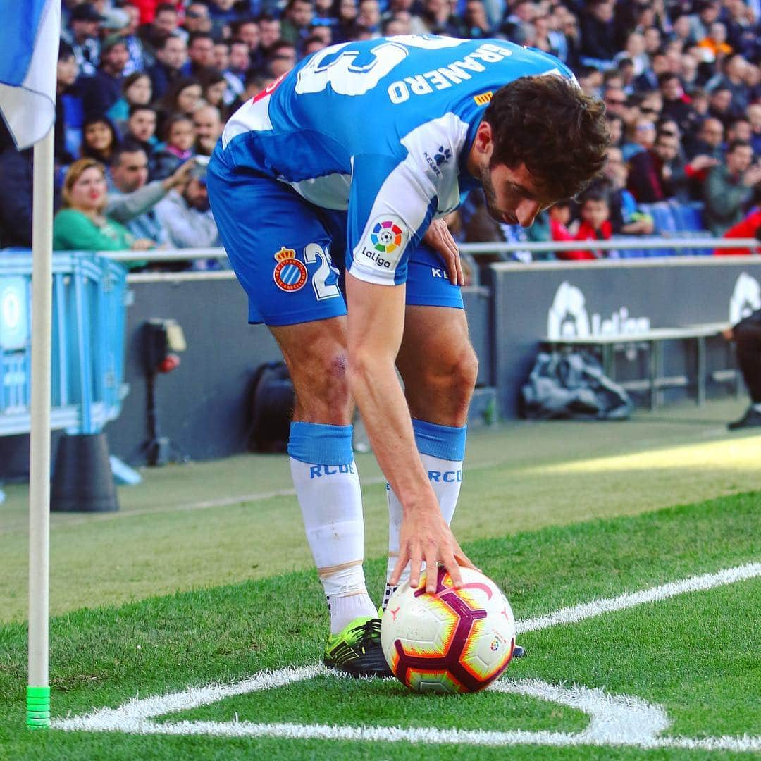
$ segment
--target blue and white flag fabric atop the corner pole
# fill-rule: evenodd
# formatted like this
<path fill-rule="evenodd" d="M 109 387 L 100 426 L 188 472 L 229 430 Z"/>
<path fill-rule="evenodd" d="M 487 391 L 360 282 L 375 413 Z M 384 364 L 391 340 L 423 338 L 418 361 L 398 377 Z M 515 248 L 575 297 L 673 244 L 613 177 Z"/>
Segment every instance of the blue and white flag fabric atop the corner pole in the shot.
<path fill-rule="evenodd" d="M 60 33 L 61 0 L 0 0 L 0 114 L 19 150 L 55 121 Z"/>

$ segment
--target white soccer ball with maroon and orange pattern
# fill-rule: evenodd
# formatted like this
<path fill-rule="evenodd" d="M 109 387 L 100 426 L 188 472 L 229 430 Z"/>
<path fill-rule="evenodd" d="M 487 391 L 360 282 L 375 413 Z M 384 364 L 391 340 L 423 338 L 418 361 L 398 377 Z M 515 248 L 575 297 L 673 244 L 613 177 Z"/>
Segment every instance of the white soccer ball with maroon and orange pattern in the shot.
<path fill-rule="evenodd" d="M 380 643 L 390 669 L 418 693 L 476 693 L 510 663 L 515 619 L 499 587 L 472 568 L 460 568 L 455 589 L 438 568 L 435 593 L 401 584 L 389 600 Z"/>

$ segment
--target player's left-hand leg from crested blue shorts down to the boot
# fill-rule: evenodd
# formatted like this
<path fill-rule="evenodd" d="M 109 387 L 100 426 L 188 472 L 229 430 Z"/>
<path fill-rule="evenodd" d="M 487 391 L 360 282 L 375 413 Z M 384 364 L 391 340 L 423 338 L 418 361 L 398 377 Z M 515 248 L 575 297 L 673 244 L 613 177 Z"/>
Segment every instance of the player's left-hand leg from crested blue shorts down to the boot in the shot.
<path fill-rule="evenodd" d="M 330 260 L 330 234 L 320 213 L 287 186 L 237 174 L 221 158 L 209 167 L 209 196 L 249 296 L 249 320 L 272 331 L 294 383 L 288 451 L 330 609 L 332 664 L 354 673 L 388 673 L 362 569 L 361 491 L 345 378 L 346 310 Z"/>

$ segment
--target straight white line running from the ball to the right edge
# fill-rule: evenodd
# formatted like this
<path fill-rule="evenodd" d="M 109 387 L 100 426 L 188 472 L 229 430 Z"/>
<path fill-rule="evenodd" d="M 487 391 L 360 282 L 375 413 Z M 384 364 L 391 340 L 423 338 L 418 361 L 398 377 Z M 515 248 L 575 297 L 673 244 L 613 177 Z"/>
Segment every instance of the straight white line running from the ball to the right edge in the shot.
<path fill-rule="evenodd" d="M 546 616 L 516 621 L 515 630 L 518 634 L 539 632 L 541 629 L 548 629 L 549 626 L 576 623 L 593 616 L 600 616 L 603 613 L 613 613 L 616 610 L 625 610 L 645 603 L 666 600 L 667 597 L 677 597 L 679 594 L 704 591 L 713 587 L 721 587 L 724 584 L 734 584 L 736 581 L 744 581 L 745 579 L 756 578 L 756 576 L 761 576 L 761 563 L 736 565 L 734 568 L 724 568 L 723 571 L 716 573 L 692 576 L 681 581 L 671 581 L 669 584 L 661 584 L 660 587 L 628 592 L 620 594 L 618 597 L 602 597 L 600 600 L 561 608 L 554 613 L 548 613 Z"/>

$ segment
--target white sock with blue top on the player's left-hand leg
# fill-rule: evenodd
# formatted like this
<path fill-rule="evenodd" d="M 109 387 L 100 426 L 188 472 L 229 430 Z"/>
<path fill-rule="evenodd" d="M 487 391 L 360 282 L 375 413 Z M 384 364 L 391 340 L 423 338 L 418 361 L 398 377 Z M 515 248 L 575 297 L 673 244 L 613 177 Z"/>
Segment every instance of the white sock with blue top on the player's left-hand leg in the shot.
<path fill-rule="evenodd" d="M 377 615 L 362 570 L 365 527 L 352 426 L 291 423 L 288 454 L 335 634 L 358 616 Z"/>

